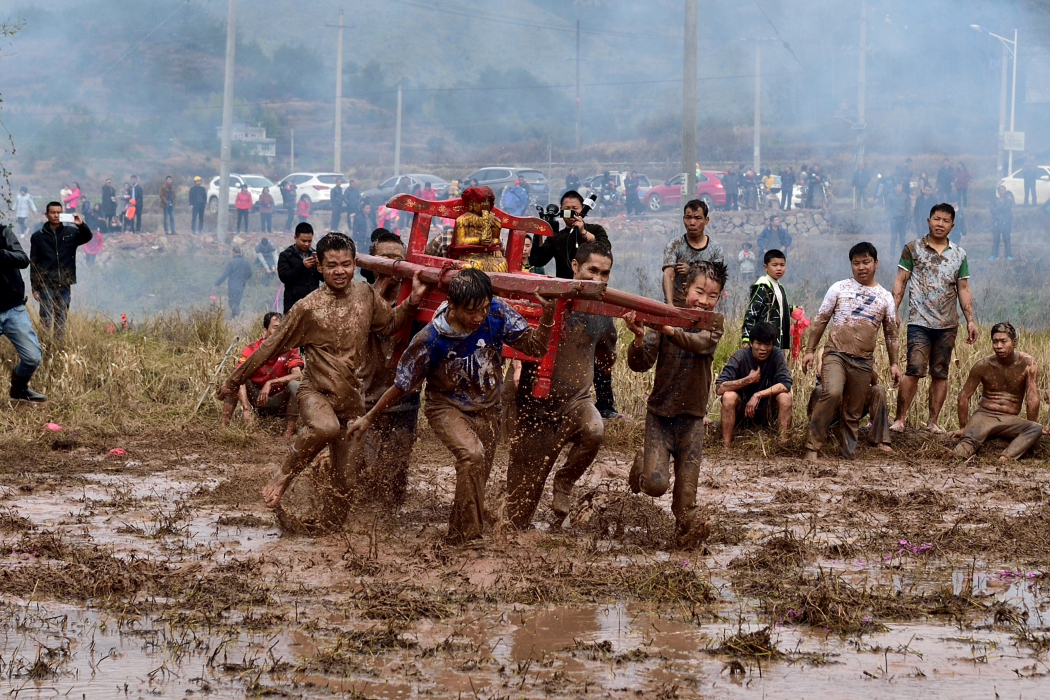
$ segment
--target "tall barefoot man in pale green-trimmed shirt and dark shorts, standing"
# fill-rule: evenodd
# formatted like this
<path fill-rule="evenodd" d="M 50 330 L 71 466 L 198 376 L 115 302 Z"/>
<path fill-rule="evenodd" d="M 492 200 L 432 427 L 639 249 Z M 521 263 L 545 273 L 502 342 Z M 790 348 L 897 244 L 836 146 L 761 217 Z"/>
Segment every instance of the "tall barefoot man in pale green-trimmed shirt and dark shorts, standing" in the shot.
<path fill-rule="evenodd" d="M 956 210 L 951 205 L 934 205 L 927 222 L 929 233 L 904 247 L 894 282 L 895 311 L 901 307 L 904 291 L 911 282 L 908 363 L 897 395 L 897 417 L 889 426 L 894 432 L 904 432 L 908 408 L 927 369 L 930 380 L 926 429 L 944 432 L 938 420 L 948 396 L 948 365 L 956 347 L 960 304 L 966 317 L 966 342 L 972 345 L 978 340 L 966 251 L 948 240 L 956 225 Z"/>

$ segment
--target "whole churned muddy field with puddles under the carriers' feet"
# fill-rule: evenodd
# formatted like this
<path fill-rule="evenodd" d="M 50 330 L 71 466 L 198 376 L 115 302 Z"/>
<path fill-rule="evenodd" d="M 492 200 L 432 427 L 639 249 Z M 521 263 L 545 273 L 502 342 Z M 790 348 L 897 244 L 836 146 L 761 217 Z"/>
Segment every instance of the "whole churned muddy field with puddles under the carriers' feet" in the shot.
<path fill-rule="evenodd" d="M 627 445 L 637 426 L 610 429 Z M 52 697 L 1040 698 L 1050 474 L 939 457 L 803 465 L 708 450 L 704 551 L 604 450 L 562 531 L 441 544 L 447 452 L 397 513 L 281 537 L 257 497 L 285 443 L 187 429 L 0 455 L 0 691 Z M 126 450 L 110 455 L 113 446 Z M 991 446 L 994 448 L 994 445 Z M 992 452 L 994 453 L 994 452 Z M 768 457 L 765 455 L 768 454 Z M 505 455 L 490 481 L 499 511 Z M 549 487 L 548 487 L 549 489 Z M 548 490 L 549 497 L 549 490 Z"/>

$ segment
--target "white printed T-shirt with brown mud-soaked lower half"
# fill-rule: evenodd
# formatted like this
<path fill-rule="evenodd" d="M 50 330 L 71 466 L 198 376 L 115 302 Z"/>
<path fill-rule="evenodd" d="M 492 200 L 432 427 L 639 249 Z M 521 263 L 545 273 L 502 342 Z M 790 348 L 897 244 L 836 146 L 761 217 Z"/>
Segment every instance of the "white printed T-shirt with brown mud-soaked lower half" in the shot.
<path fill-rule="evenodd" d="M 852 277 L 835 282 L 813 321 L 806 352 L 815 353 L 823 331 L 831 323 L 827 349 L 864 360 L 875 359 L 879 328 L 887 345 L 897 340 L 894 295 L 881 284 L 864 287 Z"/>

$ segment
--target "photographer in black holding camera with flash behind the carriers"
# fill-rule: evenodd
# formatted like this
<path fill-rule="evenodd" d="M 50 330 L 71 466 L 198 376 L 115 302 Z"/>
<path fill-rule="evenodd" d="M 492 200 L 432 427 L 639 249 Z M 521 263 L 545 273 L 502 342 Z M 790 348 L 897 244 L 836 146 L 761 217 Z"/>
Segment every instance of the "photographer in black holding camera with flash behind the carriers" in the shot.
<path fill-rule="evenodd" d="M 554 271 L 562 279 L 572 279 L 575 274 L 572 272 L 572 260 L 576 256 L 576 249 L 581 243 L 598 241 L 605 250 L 612 250 L 609 243 L 609 234 L 597 224 L 585 224 L 582 216 L 584 210 L 584 198 L 575 190 L 569 190 L 562 195 L 562 211 L 573 212 L 571 218 L 559 219 L 559 230 L 553 236 L 549 236 L 540 241 L 543 236 L 533 236 L 532 252 L 529 254 L 529 264 L 532 267 L 544 266 L 554 260 Z M 594 407 L 604 419 L 618 418 L 614 398 L 612 395 L 612 369 L 600 364 L 594 365 L 594 394 L 597 401 Z"/>

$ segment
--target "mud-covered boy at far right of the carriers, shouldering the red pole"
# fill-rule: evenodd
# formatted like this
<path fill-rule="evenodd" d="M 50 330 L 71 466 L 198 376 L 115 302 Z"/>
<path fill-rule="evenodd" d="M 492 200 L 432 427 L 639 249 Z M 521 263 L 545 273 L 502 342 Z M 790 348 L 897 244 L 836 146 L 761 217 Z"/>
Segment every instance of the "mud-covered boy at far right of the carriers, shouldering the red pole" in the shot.
<path fill-rule="evenodd" d="M 713 311 L 726 285 L 726 263 L 700 260 L 686 275 L 684 304 L 688 309 Z M 696 505 L 704 446 L 704 418 L 711 393 L 711 363 L 722 328 L 685 331 L 664 326 L 647 331 L 633 312 L 624 320 L 634 334 L 627 364 L 647 372 L 654 364 L 653 390 L 646 401 L 645 446 L 634 458 L 628 479 L 631 491 L 658 497 L 667 492 L 669 464 L 674 459 L 674 491 L 671 512 L 675 519 L 675 546 L 699 545 L 711 526 Z"/>

